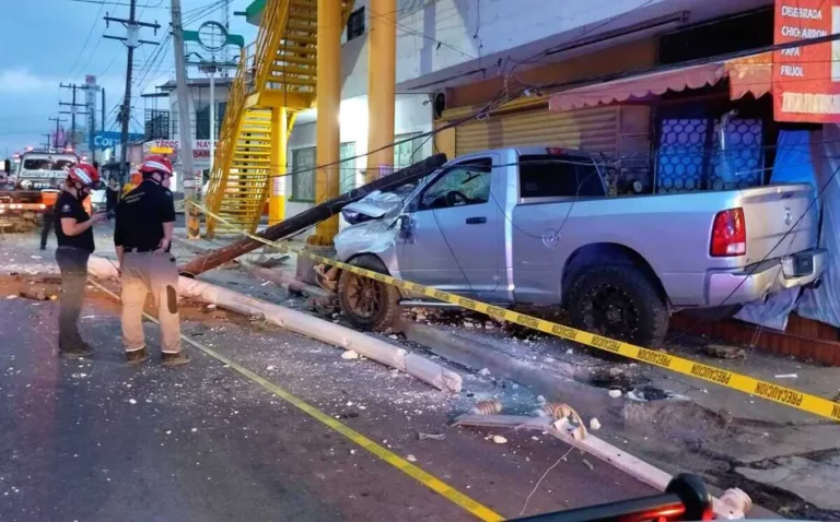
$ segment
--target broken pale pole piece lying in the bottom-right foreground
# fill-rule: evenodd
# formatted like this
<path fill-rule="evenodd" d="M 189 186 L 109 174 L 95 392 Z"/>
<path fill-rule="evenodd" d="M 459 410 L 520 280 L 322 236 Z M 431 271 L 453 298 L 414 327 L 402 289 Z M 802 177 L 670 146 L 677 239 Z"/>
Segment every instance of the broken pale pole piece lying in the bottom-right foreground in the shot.
<path fill-rule="evenodd" d="M 455 419 L 453 426 L 480 426 L 486 428 L 534 429 L 550 434 L 569 446 L 585 451 L 610 464 L 649 486 L 664 491 L 674 478 L 670 474 L 648 464 L 627 451 L 599 439 L 592 434 L 579 435 L 578 427 L 568 419 L 553 417 L 525 417 L 518 415 L 479 415 L 467 414 Z M 752 507 L 749 496 L 738 488 L 724 491 L 721 498 L 712 497 L 715 518 L 733 520 L 744 519 Z"/>

